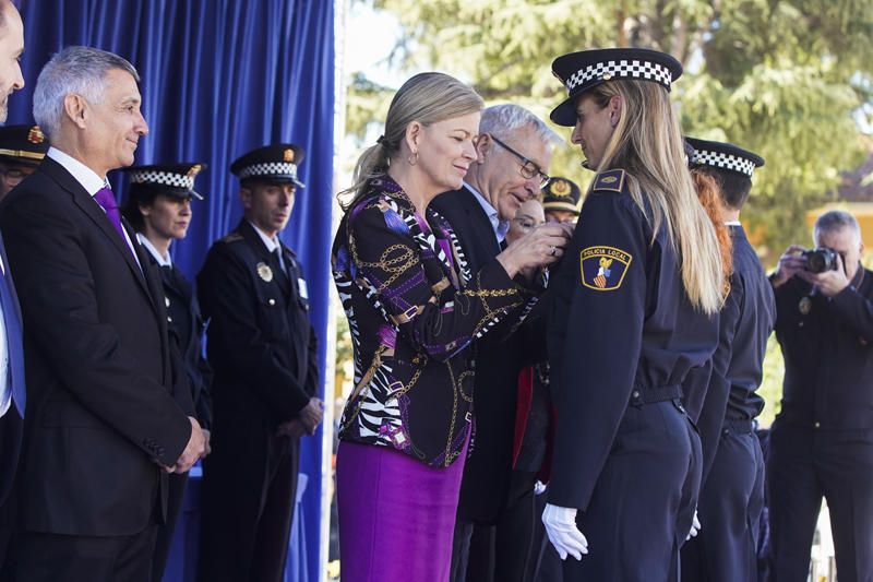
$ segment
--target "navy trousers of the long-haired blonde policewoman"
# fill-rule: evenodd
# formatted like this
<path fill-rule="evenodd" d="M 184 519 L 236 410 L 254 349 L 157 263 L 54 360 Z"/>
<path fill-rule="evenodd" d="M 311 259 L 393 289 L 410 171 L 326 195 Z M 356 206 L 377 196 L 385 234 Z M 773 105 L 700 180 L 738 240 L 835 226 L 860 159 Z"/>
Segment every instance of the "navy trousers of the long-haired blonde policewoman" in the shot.
<path fill-rule="evenodd" d="M 701 439 L 679 401 L 631 405 L 577 525 L 582 560 L 564 582 L 674 582 L 697 502 Z"/>

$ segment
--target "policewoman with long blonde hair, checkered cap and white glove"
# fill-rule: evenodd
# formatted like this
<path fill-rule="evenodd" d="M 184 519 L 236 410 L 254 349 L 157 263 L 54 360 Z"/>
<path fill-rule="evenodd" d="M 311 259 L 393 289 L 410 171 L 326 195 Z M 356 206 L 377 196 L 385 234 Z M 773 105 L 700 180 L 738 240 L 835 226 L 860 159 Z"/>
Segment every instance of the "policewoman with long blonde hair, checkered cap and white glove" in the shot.
<path fill-rule="evenodd" d="M 723 293 L 669 100 L 682 68 L 661 52 L 606 49 L 564 55 L 552 70 L 570 91 L 552 121 L 575 126 L 598 174 L 555 276 L 559 421 L 542 520 L 561 557 L 576 558 L 567 582 L 663 581 L 699 479 L 681 383 L 715 348 Z"/>

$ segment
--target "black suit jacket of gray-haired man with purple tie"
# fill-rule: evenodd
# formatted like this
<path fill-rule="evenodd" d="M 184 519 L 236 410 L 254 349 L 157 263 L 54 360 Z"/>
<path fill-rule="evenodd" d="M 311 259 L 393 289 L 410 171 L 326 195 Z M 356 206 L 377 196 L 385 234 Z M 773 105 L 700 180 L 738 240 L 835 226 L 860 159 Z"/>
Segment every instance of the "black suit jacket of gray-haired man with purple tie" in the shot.
<path fill-rule="evenodd" d="M 191 435 L 171 394 L 160 278 L 50 158 L 3 201 L 0 228 L 24 320 L 22 523 L 142 532 L 165 511 L 158 464 L 175 464 Z"/>

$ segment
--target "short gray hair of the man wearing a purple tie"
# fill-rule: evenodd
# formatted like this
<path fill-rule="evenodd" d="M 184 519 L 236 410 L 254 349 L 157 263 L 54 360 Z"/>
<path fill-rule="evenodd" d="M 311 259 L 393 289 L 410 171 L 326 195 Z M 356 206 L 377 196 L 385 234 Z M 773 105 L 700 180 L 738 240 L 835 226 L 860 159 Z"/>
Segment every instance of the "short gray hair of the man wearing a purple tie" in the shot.
<path fill-rule="evenodd" d="M 67 47 L 43 67 L 34 90 L 34 120 L 49 136 L 60 131 L 63 99 L 71 93 L 89 103 L 103 103 L 106 74 L 120 69 L 140 82 L 127 59 L 92 47 Z"/>

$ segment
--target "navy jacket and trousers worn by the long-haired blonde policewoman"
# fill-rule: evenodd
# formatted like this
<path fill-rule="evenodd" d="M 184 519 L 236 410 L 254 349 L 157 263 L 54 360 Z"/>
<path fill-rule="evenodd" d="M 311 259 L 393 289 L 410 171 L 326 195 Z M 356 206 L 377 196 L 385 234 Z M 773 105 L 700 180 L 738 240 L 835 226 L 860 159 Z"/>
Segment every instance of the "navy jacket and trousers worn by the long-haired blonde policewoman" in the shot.
<path fill-rule="evenodd" d="M 553 286 L 548 495 L 579 509 L 589 544 L 564 561 L 569 582 L 678 575 L 701 476 L 681 384 L 711 356 L 717 325 L 689 301 L 668 233 L 653 237 L 631 179 L 621 169 L 595 178 Z"/>

